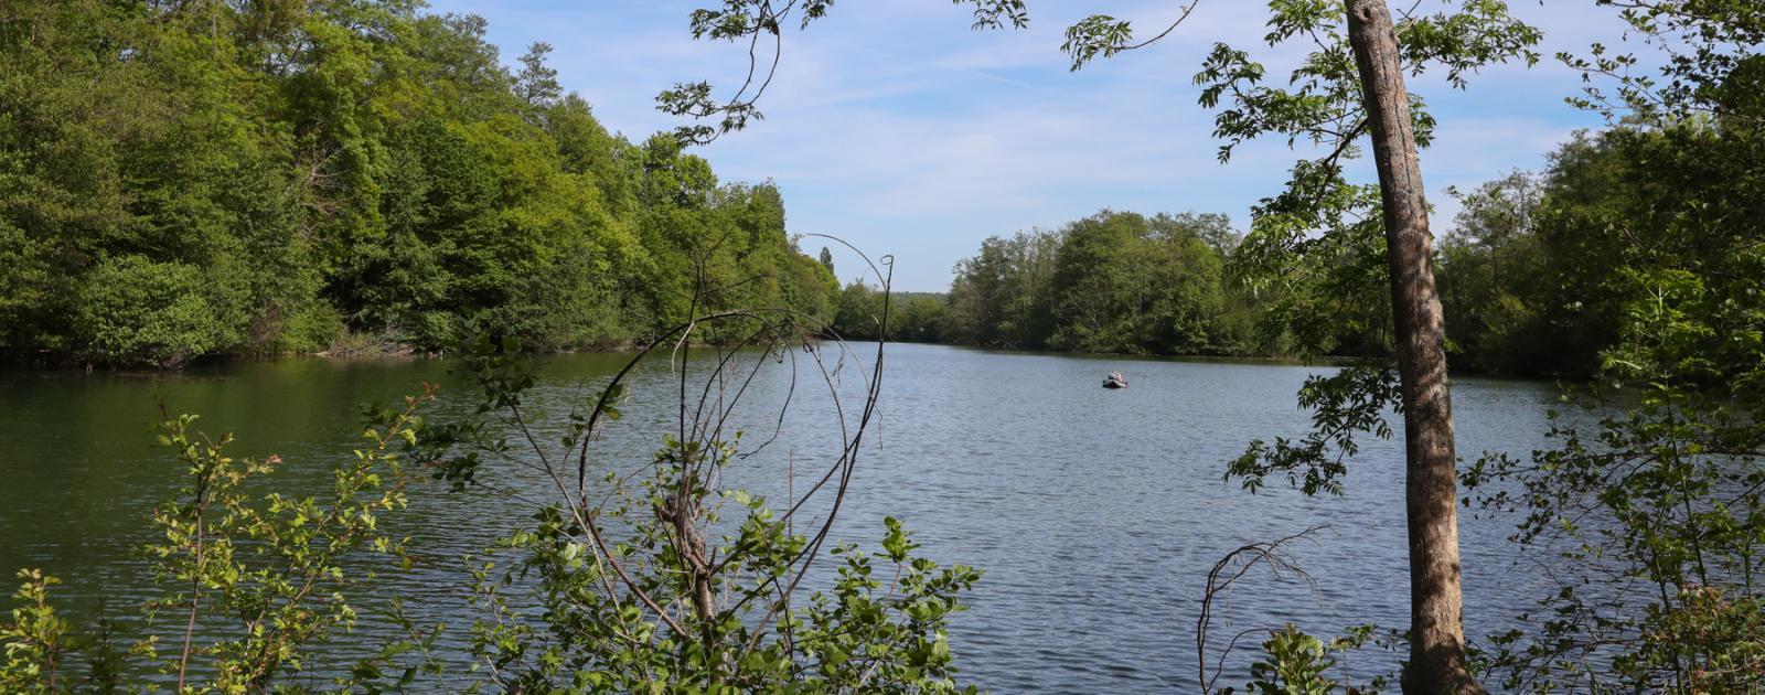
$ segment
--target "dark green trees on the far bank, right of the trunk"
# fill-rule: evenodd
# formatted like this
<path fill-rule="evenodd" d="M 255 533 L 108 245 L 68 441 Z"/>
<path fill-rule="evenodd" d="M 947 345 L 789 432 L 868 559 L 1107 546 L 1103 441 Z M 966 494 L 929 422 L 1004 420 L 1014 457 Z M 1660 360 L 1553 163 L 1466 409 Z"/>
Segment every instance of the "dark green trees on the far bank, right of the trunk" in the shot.
<path fill-rule="evenodd" d="M 1509 374 L 1587 376 L 1619 348 L 1641 280 L 1686 268 L 1726 300 L 1765 219 L 1765 143 L 1733 122 L 1687 120 L 1583 134 L 1543 176 L 1513 175 L 1465 196 L 1442 243 L 1442 300 L 1460 365 Z M 1735 293 L 1739 291 L 1739 293 Z M 1712 344 L 1723 370 L 1756 360 Z"/>

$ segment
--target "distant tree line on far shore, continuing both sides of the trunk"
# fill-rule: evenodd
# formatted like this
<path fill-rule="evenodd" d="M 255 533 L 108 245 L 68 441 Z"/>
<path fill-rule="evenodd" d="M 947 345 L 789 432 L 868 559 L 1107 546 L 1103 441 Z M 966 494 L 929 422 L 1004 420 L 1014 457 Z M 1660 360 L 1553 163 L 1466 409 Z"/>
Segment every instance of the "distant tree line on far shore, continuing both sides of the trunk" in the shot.
<path fill-rule="evenodd" d="M 1578 132 L 1543 171 L 1451 191 L 1435 265 L 1449 358 L 1481 374 L 1587 377 L 1619 348 L 1638 279 L 1700 268 L 1744 277 L 1765 219 L 1756 143 L 1739 116 Z M 897 296 L 891 339 L 1124 355 L 1387 358 L 1389 298 L 1364 277 L 1382 243 L 1311 240 L 1271 258 L 1225 215 L 1103 210 L 981 242 L 946 293 Z M 1716 273 L 1716 275 L 1710 275 Z M 1765 298 L 1739 293 L 1740 307 Z M 858 337 L 881 295 L 845 286 L 835 325 Z M 1728 370 L 1740 358 L 1724 358 Z"/>

